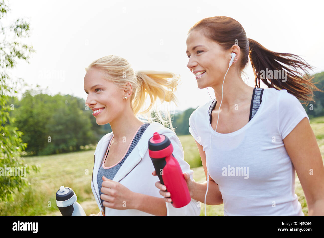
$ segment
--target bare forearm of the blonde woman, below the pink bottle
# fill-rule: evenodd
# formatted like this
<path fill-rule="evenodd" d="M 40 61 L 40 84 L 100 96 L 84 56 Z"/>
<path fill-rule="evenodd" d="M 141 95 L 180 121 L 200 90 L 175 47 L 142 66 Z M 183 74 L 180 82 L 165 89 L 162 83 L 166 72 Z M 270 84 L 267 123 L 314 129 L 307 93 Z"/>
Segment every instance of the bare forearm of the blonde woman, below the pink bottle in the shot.
<path fill-rule="evenodd" d="M 167 215 L 167 206 L 163 198 L 157 198 L 141 193 L 134 193 L 133 197 L 133 209 L 144 211 L 156 216 Z"/>

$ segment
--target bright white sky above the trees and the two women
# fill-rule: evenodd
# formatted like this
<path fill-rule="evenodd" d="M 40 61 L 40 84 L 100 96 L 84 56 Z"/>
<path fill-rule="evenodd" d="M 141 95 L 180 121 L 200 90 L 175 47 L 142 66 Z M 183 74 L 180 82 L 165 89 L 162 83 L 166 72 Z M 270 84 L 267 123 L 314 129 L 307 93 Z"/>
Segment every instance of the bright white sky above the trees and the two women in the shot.
<path fill-rule="evenodd" d="M 13 71 L 47 93 L 70 94 L 86 100 L 85 67 L 93 60 L 116 54 L 136 70 L 171 71 L 181 75 L 179 110 L 211 100 L 199 89 L 187 68 L 188 30 L 205 17 L 236 19 L 247 37 L 269 50 L 293 53 L 324 71 L 323 3 L 321 1 L 10 1 L 9 19 L 30 24 L 24 42 L 36 50 L 29 64 L 19 61 Z M 161 42 L 163 44 L 161 45 Z M 245 82 L 254 86 L 249 64 Z M 244 79 L 244 77 L 243 77 Z M 267 87 L 263 83 L 261 87 Z M 214 99 L 212 88 L 208 88 Z M 21 93 L 21 92 L 20 92 Z"/>

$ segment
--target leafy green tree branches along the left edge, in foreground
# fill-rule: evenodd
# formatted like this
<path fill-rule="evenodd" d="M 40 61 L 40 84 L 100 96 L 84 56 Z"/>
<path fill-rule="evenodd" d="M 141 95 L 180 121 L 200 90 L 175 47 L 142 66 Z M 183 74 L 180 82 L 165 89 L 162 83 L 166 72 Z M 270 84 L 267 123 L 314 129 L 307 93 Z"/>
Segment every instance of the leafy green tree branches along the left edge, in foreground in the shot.
<path fill-rule="evenodd" d="M 17 19 L 9 26 L 3 26 L 2 22 L 6 17 L 9 7 L 5 1 L 0 1 L 0 25 L 3 40 L 0 40 L 0 201 L 13 200 L 12 194 L 15 189 L 23 192 L 27 186 L 26 179 L 21 176 L 4 176 L 7 171 L 5 168 L 26 168 L 26 174 L 29 174 L 29 167 L 20 158 L 20 153 L 26 148 L 27 144 L 21 140 L 22 132 L 13 127 L 15 118 L 11 118 L 9 110 L 14 109 L 10 104 L 12 95 L 17 94 L 18 81 L 11 80 L 8 69 L 14 68 L 18 59 L 28 62 L 31 52 L 34 52 L 32 46 L 19 42 L 19 38 L 29 37 L 29 24 L 23 19 Z M 8 39 L 11 35 L 12 39 Z M 38 171 L 37 166 L 32 168 Z M 2 173 L 2 174 L 1 174 Z"/>

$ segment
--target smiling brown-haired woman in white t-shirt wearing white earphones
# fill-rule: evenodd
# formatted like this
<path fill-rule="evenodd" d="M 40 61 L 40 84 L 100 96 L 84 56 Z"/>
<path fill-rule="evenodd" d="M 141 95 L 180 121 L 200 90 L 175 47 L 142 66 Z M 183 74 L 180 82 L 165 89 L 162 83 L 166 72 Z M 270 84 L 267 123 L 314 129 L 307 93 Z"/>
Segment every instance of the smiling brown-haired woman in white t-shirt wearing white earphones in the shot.
<path fill-rule="evenodd" d="M 197 22 L 188 32 L 186 53 L 198 87 L 212 87 L 216 97 L 189 119 L 207 180 L 184 175 L 191 198 L 224 203 L 224 215 L 303 216 L 297 172 L 308 215 L 324 215 L 322 156 L 298 100 L 312 101 L 313 91 L 321 91 L 307 76 L 312 67 L 297 55 L 264 48 L 224 16 Z M 241 77 L 249 58 L 254 88 Z M 269 88 L 260 88 L 260 79 Z M 156 187 L 170 202 L 165 186 Z"/>

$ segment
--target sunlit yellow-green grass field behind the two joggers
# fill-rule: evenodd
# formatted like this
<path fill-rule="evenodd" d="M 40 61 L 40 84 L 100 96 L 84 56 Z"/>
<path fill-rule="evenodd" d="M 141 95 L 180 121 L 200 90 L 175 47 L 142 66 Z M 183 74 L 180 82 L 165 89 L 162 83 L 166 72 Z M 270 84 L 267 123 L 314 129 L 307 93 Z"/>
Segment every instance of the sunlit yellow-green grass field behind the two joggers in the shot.
<path fill-rule="evenodd" d="M 311 127 L 317 138 L 318 146 L 324 154 L 324 117 L 310 120 Z M 193 178 L 204 182 L 205 174 L 201 164 L 197 146 L 191 135 L 179 136 L 185 160 L 194 171 Z M 55 193 L 60 186 L 72 187 L 78 198 L 78 203 L 86 214 L 98 213 L 99 209 L 91 191 L 91 176 L 94 164 L 94 151 L 64 153 L 49 156 L 34 156 L 25 158 L 27 164 L 39 164 L 39 173 L 31 171 L 26 178 L 29 182 L 24 193 L 15 192 L 13 202 L 0 203 L 0 215 L 58 215 L 61 213 L 56 206 Z M 302 211 L 308 214 L 307 203 L 297 174 L 295 193 L 302 205 Z M 206 206 L 207 215 L 224 215 L 224 204 Z M 204 215 L 204 204 L 201 203 L 201 214 Z"/>

